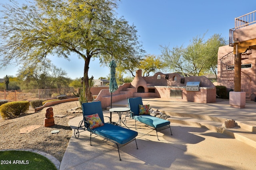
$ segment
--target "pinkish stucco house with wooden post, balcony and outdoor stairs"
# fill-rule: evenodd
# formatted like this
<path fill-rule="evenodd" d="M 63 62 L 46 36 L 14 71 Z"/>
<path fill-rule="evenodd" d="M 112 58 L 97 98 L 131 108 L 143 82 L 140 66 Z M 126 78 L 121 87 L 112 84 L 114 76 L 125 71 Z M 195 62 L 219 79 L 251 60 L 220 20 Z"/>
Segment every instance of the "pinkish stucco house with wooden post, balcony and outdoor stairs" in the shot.
<path fill-rule="evenodd" d="M 256 11 L 235 18 L 229 45 L 218 50 L 218 86 L 256 97 Z"/>

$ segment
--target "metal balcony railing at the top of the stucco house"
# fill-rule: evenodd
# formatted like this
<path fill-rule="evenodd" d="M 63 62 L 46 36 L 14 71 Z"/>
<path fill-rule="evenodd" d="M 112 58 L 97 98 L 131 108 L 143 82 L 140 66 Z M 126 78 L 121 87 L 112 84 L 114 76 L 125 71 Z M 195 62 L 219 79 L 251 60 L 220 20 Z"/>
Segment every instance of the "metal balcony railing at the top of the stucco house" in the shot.
<path fill-rule="evenodd" d="M 256 23 L 256 11 L 235 18 L 235 27 L 229 30 L 229 46 L 234 46 L 234 30 Z"/>

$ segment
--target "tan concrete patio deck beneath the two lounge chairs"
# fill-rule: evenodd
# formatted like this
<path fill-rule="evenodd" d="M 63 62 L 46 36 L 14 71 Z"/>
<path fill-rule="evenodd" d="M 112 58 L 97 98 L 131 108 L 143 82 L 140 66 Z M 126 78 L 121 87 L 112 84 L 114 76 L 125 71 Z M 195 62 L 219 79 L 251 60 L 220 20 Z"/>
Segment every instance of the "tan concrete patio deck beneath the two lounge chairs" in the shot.
<path fill-rule="evenodd" d="M 135 141 L 121 147 L 120 161 L 115 144 L 92 135 L 90 146 L 88 131 L 81 132 L 78 139 L 72 134 L 60 170 L 256 169 L 255 102 L 247 101 L 244 109 L 230 107 L 228 101 L 198 104 L 146 98 L 143 103 L 171 116 L 172 136 L 170 129 L 164 129 L 158 133 L 158 141 L 156 132 L 141 123 L 136 130 L 138 150 Z M 113 107 L 125 104 L 126 100 Z M 109 111 L 104 114 L 108 116 Z M 112 119 L 117 121 L 118 115 L 112 113 Z M 241 128 L 216 133 L 214 127 L 221 126 L 224 119 L 234 119 Z M 82 116 L 70 120 L 70 127 L 76 128 L 81 120 Z M 134 120 L 126 125 L 135 130 Z"/>

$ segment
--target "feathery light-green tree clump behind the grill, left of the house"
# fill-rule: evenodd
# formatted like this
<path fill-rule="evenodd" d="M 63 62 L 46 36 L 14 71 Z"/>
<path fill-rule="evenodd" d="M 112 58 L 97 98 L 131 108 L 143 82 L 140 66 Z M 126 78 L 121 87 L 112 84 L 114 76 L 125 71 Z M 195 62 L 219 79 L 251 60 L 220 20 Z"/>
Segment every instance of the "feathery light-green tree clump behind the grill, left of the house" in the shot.
<path fill-rule="evenodd" d="M 226 44 L 224 38 L 214 34 L 207 41 L 203 37 L 194 37 L 184 48 L 161 46 L 162 58 L 170 70 L 182 72 L 184 76 L 200 76 L 206 72 L 214 72 L 218 64 L 218 48 Z"/>

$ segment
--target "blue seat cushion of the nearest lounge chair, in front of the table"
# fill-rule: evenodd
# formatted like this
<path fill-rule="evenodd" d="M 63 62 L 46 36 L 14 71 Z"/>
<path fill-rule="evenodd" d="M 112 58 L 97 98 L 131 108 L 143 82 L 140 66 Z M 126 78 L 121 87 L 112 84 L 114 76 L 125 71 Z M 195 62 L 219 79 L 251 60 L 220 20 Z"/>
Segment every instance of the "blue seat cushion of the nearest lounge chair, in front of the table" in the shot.
<path fill-rule="evenodd" d="M 92 131 L 93 133 L 116 141 L 117 143 L 120 144 L 128 143 L 138 135 L 138 132 L 136 131 L 112 125 L 110 123 L 105 123 L 102 127 L 96 127 Z"/>

